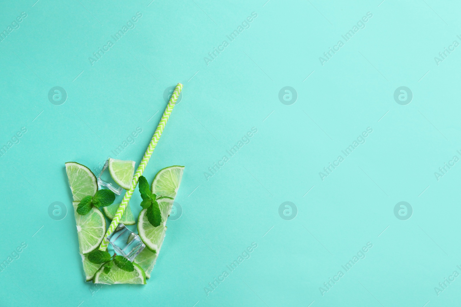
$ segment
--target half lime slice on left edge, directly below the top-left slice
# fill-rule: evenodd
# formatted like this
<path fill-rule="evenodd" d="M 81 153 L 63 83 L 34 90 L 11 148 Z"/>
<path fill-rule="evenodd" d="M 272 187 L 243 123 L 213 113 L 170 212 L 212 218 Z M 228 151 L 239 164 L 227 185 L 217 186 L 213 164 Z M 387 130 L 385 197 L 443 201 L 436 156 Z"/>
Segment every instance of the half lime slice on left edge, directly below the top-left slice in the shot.
<path fill-rule="evenodd" d="M 106 234 L 106 218 L 96 207 L 91 208 L 88 214 L 77 213 L 79 202 L 73 202 L 75 222 L 77 223 L 78 245 L 80 254 L 88 254 L 99 247 Z"/>

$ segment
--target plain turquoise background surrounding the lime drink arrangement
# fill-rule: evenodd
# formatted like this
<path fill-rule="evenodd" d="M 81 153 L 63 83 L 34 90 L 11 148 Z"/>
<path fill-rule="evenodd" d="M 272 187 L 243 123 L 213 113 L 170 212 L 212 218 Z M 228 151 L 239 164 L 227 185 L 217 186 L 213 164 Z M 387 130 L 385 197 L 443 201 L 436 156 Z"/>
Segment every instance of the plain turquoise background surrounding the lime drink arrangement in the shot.
<path fill-rule="evenodd" d="M 461 273 L 461 166 L 438 180 L 434 172 L 461 158 L 461 47 L 438 65 L 434 57 L 461 43 L 460 8 L 445 0 L 3 1 L 1 31 L 27 17 L 0 42 L 0 145 L 27 132 L 0 157 L 0 262 L 27 247 L 0 272 L 0 305 L 458 305 L 461 277 L 438 295 L 434 288 Z M 136 27 L 91 65 L 136 12 Z M 365 28 L 322 66 L 319 57 L 367 12 Z M 168 222 L 147 285 L 85 283 L 64 163 L 94 170 L 136 127 L 142 133 L 117 158 L 139 162 L 163 93 L 177 82 L 183 98 L 144 175 L 185 165 L 183 214 Z M 64 104 L 48 100 L 55 86 Z M 285 86 L 295 88 L 294 104 L 279 100 Z M 401 86 L 413 93 L 409 104 L 394 100 Z M 250 143 L 207 178 L 252 127 Z M 365 144 L 321 180 L 367 127 Z M 56 201 L 67 207 L 62 220 L 48 215 Z M 286 201 L 294 219 L 278 213 Z M 401 201 L 413 208 L 408 220 L 394 215 Z M 131 201 L 135 214 L 139 202 Z M 365 259 L 345 272 L 368 242 Z M 252 243 L 251 257 L 207 295 Z"/>

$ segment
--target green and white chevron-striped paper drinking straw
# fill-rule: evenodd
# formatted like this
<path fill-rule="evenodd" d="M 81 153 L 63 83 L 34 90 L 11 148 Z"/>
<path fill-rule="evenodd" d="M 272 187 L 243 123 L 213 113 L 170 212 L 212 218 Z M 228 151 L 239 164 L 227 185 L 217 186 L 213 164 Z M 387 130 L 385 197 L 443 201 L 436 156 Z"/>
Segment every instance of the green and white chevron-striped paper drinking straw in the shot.
<path fill-rule="evenodd" d="M 154 152 L 155 146 L 157 146 L 157 143 L 159 142 L 160 136 L 162 135 L 163 129 L 165 128 L 166 122 L 168 122 L 168 118 L 170 118 L 171 111 L 173 110 L 174 105 L 176 104 L 176 100 L 179 97 L 179 94 L 181 93 L 182 89 L 183 85 L 181 83 L 178 83 L 176 88 L 174 89 L 173 94 L 171 95 L 168 105 L 166 106 L 165 112 L 163 112 L 163 116 L 160 119 L 157 129 L 155 129 L 154 136 L 152 137 L 152 140 L 150 141 L 149 146 L 146 152 L 144 153 L 144 156 L 142 157 L 141 163 L 139 163 L 138 169 L 136 170 L 133 180 L 131 180 L 130 190 L 126 191 L 122 199 L 122 203 L 120 203 L 120 206 L 118 206 L 117 213 L 115 214 L 111 222 L 111 225 L 109 226 L 109 229 L 107 229 L 106 235 L 104 236 L 104 239 L 102 240 L 101 245 L 99 247 L 100 250 L 107 249 L 107 246 L 109 245 L 107 237 L 109 237 L 115 230 L 115 228 L 118 226 L 118 223 L 122 218 L 125 208 L 128 205 L 128 202 L 130 201 L 131 195 L 133 195 L 133 192 L 136 189 L 136 185 L 138 185 L 139 177 L 144 172 L 144 169 L 146 168 L 147 163 L 149 162 L 150 156 L 152 156 L 152 152 Z"/>

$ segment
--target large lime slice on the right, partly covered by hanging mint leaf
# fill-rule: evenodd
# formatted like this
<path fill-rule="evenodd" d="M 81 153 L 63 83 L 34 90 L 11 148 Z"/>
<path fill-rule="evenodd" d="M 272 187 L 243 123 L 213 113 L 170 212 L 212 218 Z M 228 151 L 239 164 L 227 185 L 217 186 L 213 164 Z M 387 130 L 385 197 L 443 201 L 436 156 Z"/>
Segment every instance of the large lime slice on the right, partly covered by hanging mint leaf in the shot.
<path fill-rule="evenodd" d="M 146 247 L 154 252 L 158 253 L 160 247 L 165 238 L 166 231 L 166 219 L 171 211 L 174 199 L 171 197 L 160 197 L 157 199 L 159 203 L 160 212 L 162 215 L 162 223 L 158 227 L 152 226 L 147 219 L 147 209 L 141 210 L 138 218 L 138 234 L 142 242 L 146 244 Z"/>

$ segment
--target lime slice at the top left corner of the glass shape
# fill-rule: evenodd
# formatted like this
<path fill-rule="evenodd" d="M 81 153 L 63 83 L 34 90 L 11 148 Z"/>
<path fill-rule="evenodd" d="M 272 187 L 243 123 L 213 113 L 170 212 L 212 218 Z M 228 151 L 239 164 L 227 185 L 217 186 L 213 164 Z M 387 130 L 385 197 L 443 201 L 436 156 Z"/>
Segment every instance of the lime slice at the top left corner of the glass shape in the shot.
<path fill-rule="evenodd" d="M 86 166 L 77 162 L 66 162 L 65 172 L 75 201 L 81 201 L 88 195 L 93 196 L 98 191 L 96 176 Z"/>

